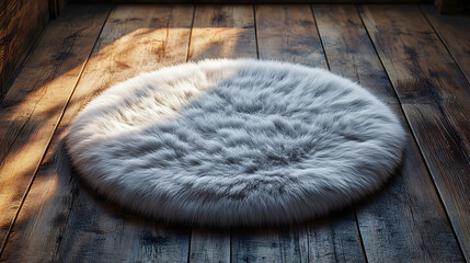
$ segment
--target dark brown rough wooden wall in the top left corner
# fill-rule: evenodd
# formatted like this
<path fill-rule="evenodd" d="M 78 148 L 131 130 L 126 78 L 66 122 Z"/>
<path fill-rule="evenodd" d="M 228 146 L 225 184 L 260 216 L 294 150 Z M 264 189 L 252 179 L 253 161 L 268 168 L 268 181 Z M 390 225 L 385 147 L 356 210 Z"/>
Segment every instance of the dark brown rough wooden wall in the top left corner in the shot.
<path fill-rule="evenodd" d="M 0 2 L 0 100 L 48 20 L 48 0 Z"/>

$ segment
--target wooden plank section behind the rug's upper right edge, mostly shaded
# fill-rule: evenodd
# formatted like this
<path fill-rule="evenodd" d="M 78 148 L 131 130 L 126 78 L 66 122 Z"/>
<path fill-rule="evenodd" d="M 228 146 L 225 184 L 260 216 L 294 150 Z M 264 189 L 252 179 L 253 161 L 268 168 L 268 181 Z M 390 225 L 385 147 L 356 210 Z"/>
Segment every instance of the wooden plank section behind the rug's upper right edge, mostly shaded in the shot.
<path fill-rule="evenodd" d="M 330 69 L 387 104 L 399 103 L 354 5 L 312 5 Z"/>

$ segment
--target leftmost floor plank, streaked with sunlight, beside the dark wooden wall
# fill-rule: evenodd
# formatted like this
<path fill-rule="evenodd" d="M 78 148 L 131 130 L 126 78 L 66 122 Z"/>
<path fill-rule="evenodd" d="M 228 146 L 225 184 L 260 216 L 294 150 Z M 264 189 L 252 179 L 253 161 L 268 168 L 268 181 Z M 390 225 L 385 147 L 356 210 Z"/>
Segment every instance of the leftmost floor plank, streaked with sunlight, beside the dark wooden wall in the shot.
<path fill-rule="evenodd" d="M 107 10 L 76 7 L 51 22 L 1 103 L 1 248 Z"/>

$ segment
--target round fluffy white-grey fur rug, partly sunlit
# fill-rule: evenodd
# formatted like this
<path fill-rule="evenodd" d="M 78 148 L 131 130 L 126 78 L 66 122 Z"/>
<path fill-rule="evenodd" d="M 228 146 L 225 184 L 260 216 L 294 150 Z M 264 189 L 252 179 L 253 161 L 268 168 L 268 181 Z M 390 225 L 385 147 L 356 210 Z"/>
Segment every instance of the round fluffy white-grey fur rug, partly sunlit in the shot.
<path fill-rule="evenodd" d="M 399 119 L 322 69 L 204 60 L 116 84 L 77 117 L 67 148 L 108 199 L 174 222 L 300 222 L 377 190 L 399 165 Z"/>

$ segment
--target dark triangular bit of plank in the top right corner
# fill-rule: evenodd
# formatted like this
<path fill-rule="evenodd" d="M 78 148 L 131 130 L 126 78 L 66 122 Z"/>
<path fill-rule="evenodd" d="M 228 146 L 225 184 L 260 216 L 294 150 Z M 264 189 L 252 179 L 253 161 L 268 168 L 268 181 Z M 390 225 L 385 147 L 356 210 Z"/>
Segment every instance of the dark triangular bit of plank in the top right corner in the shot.
<path fill-rule="evenodd" d="M 421 9 L 470 82 L 470 16 L 442 15 L 431 4 Z"/>

